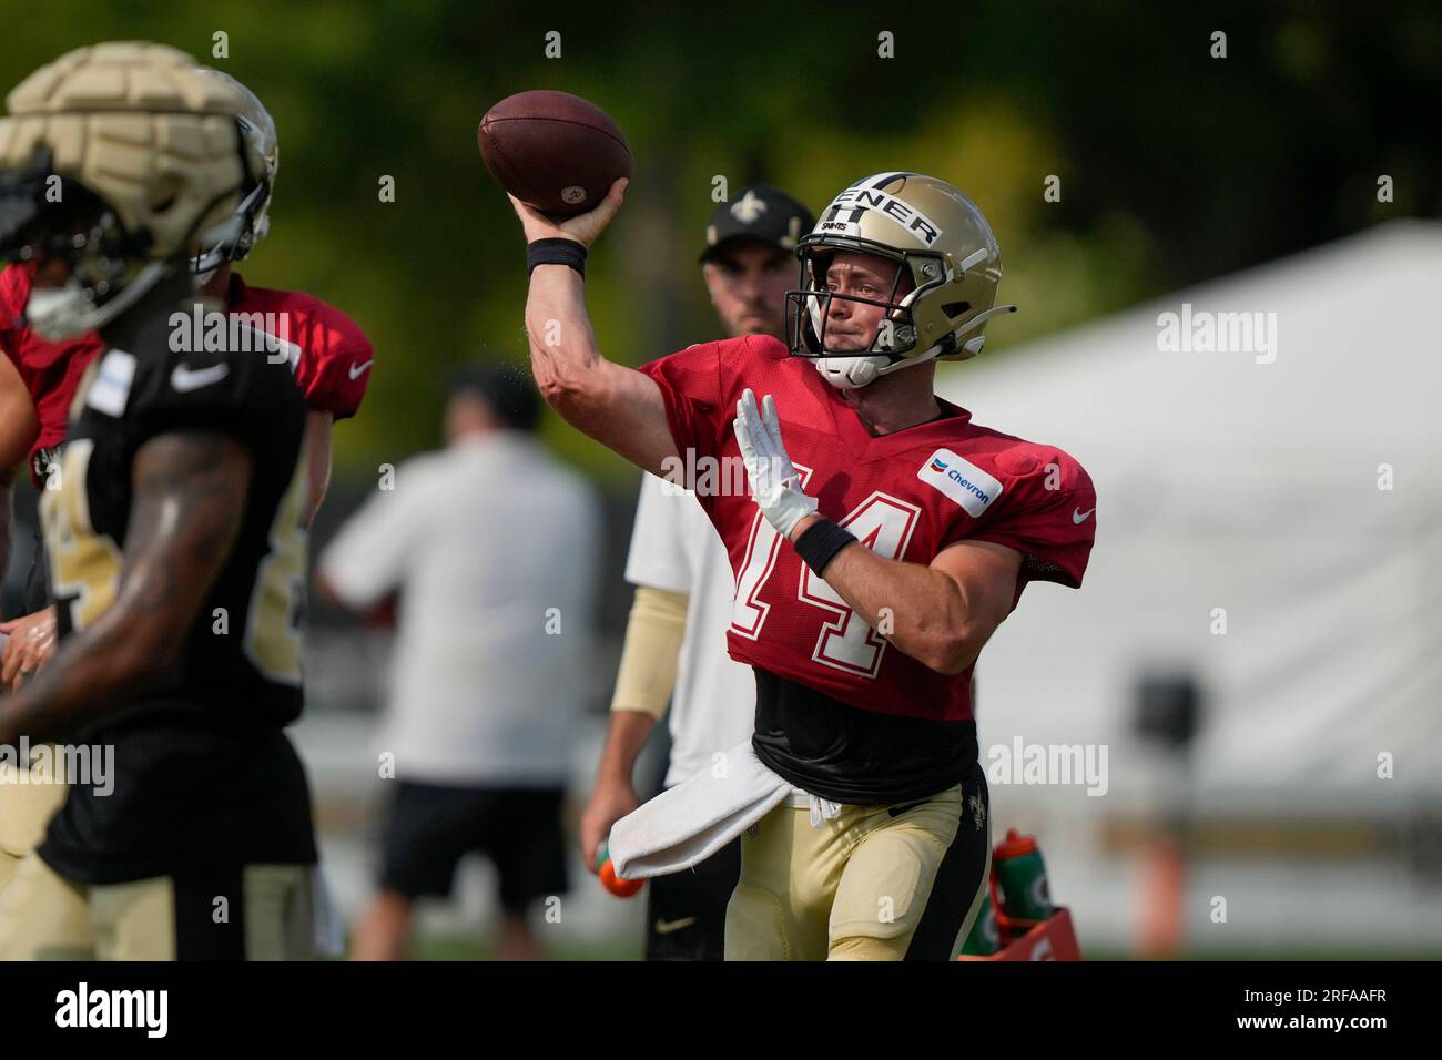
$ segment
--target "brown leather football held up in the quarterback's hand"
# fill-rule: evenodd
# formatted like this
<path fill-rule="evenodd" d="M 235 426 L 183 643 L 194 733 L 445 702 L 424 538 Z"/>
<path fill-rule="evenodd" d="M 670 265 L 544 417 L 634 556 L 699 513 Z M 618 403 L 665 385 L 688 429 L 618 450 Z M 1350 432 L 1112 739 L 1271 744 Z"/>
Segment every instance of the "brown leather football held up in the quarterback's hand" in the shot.
<path fill-rule="evenodd" d="M 502 187 L 555 216 L 594 209 L 630 176 L 630 147 L 600 107 L 568 92 L 509 95 L 480 120 L 480 156 Z"/>

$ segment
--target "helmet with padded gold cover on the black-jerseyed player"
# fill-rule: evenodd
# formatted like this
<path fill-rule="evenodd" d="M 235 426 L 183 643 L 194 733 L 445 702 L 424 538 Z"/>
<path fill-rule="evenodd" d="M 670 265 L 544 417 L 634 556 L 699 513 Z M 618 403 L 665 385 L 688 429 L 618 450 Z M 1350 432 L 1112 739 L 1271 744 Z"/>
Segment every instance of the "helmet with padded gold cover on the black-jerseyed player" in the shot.
<path fill-rule="evenodd" d="M 267 176 L 247 100 L 163 45 L 81 48 L 10 92 L 0 118 L 0 257 L 59 260 L 26 317 L 46 339 L 102 327 L 196 248 L 228 245 Z"/>

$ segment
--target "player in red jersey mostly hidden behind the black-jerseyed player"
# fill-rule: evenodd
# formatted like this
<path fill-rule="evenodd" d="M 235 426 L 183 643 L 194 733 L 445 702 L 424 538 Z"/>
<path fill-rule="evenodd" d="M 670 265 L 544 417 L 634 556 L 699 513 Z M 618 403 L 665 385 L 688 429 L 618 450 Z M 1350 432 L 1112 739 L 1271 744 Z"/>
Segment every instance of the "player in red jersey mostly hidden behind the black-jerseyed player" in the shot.
<path fill-rule="evenodd" d="M 294 368 L 306 407 L 307 512 L 313 518 L 330 479 L 330 428 L 336 420 L 356 414 L 371 379 L 373 353 L 365 332 L 333 306 L 298 291 L 249 287 L 232 271 L 270 228 L 267 215 L 278 170 L 275 125 L 249 89 L 226 74 L 205 71 L 224 79 L 247 101 L 242 123 L 255 150 L 265 160 L 265 175 L 236 208 L 232 238 L 200 248 L 192 265 L 203 293 L 224 301 L 232 320 L 255 335 L 252 349 L 286 353 Z M 69 339 L 48 340 L 45 330 L 65 324 L 74 314 L 94 312 L 82 300 L 66 301 L 68 293 L 36 284 L 32 262 L 6 265 L 0 271 L 0 575 L 10 551 L 10 489 L 17 464 L 26 463 L 37 490 L 55 489 L 58 451 L 65 441 L 75 392 L 87 369 L 105 349 L 89 330 Z M 69 316 L 68 316 L 69 314 Z M 94 327 L 94 322 L 91 326 Z M 56 613 L 43 577 L 46 562 L 39 555 L 26 593 L 30 613 L 0 622 L 7 636 L 0 652 L 0 689 L 16 691 L 45 665 L 56 648 Z M 0 887 L 14 865 L 40 839 L 45 823 L 63 800 L 58 785 L 0 786 Z"/>

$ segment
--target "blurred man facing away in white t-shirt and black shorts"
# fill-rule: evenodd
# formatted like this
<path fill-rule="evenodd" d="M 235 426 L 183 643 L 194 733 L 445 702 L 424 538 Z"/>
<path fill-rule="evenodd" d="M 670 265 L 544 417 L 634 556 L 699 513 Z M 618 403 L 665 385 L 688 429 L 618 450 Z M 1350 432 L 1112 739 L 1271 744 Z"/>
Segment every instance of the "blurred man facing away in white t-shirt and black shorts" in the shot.
<path fill-rule="evenodd" d="M 448 897 L 461 857 L 500 875 L 500 959 L 538 959 L 526 914 L 567 888 L 561 805 L 584 707 L 598 513 L 535 436 L 516 369 L 457 375 L 438 453 L 401 464 L 320 558 L 333 601 L 397 606 L 378 741 L 394 779 L 379 893 L 353 956 L 405 956 L 417 898 Z"/>

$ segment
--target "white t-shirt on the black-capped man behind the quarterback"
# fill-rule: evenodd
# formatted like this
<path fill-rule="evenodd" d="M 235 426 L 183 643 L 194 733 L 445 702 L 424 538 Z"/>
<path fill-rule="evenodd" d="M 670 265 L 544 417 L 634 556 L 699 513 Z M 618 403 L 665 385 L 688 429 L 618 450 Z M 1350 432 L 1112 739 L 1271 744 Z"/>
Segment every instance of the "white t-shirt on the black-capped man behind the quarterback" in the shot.
<path fill-rule="evenodd" d="M 756 725 L 756 675 L 725 649 L 735 575 L 725 545 L 695 495 L 645 474 L 636 503 L 626 580 L 669 593 L 689 593 L 686 636 L 671 698 L 671 769 L 679 785 L 731 750 Z"/>

